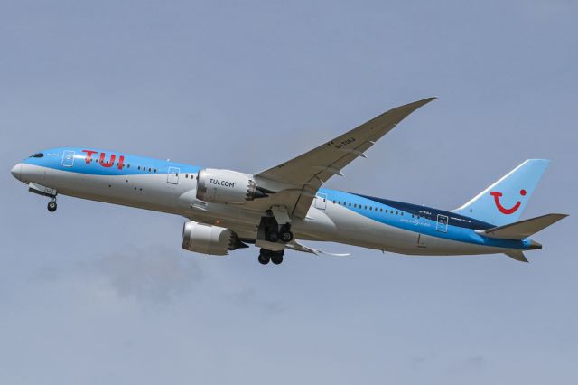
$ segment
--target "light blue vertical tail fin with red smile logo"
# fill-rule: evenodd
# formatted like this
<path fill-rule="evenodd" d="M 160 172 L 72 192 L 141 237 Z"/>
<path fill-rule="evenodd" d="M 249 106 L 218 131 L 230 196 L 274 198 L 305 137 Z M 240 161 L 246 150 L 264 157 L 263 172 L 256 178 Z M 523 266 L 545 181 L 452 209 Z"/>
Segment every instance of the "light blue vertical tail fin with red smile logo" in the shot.
<path fill-rule="evenodd" d="M 549 163 L 528 159 L 454 212 L 497 226 L 517 221 Z"/>

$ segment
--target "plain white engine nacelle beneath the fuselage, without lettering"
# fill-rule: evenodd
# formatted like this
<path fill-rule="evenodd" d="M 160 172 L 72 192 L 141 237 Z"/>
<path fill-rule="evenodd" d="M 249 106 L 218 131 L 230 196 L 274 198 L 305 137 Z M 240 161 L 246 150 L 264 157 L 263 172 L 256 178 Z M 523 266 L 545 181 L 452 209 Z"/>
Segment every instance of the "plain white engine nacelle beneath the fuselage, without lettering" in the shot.
<path fill-rule="evenodd" d="M 237 235 L 219 226 L 188 221 L 182 227 L 182 249 L 224 256 L 237 248 Z"/>

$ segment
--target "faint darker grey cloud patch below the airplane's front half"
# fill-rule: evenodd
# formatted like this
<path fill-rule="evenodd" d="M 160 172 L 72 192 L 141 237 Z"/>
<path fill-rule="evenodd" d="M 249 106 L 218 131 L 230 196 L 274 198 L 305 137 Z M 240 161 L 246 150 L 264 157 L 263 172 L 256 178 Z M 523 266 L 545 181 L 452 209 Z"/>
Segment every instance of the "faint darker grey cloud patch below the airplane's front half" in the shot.
<path fill-rule="evenodd" d="M 210 258 L 210 257 L 209 257 Z M 58 284 L 72 280 L 91 282 L 104 293 L 120 299 L 135 299 L 141 305 L 171 304 L 199 291 L 217 301 L 240 308 L 261 309 L 269 314 L 284 310 L 284 305 L 259 294 L 255 287 L 236 276 L 225 281 L 216 271 L 203 268 L 208 259 L 200 254 L 183 255 L 174 248 L 154 245 L 127 247 L 101 256 L 89 256 L 73 264 L 43 265 L 33 280 Z M 212 272 L 210 272 L 212 271 Z"/>

